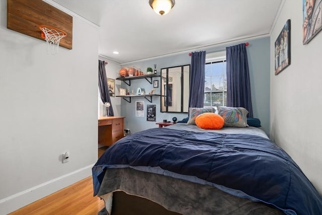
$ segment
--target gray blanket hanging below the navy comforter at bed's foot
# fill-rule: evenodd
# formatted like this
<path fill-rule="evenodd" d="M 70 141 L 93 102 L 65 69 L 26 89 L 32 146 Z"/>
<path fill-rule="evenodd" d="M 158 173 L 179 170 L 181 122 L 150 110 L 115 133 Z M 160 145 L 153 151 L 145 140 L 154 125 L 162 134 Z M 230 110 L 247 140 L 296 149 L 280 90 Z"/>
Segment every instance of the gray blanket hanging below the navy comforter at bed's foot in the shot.
<path fill-rule="evenodd" d="M 117 190 L 147 198 L 168 210 L 181 214 L 284 214 L 277 208 L 232 196 L 209 185 L 200 185 L 130 168 L 107 169 L 98 196 L 105 202 L 109 202 L 105 198 L 111 197 L 109 193 Z"/>

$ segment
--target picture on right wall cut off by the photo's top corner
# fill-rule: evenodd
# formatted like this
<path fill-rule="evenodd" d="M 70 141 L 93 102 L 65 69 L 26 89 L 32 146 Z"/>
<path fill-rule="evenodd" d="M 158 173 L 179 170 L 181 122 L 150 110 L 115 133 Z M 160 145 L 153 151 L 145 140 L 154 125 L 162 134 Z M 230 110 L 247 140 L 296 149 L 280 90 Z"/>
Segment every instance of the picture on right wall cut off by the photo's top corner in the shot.
<path fill-rule="evenodd" d="M 322 0 L 302 0 L 303 45 L 322 29 Z"/>

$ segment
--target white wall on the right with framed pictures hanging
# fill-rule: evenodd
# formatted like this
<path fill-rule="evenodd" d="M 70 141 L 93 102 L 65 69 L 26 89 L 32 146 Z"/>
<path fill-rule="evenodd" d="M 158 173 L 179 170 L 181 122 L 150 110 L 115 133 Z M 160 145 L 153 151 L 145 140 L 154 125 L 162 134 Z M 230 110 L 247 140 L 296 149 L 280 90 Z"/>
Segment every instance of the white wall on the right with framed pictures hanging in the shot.
<path fill-rule="evenodd" d="M 274 75 L 274 42 L 291 19 L 291 64 Z M 322 193 L 322 32 L 302 45 L 302 1 L 286 0 L 271 33 L 271 138 Z"/>

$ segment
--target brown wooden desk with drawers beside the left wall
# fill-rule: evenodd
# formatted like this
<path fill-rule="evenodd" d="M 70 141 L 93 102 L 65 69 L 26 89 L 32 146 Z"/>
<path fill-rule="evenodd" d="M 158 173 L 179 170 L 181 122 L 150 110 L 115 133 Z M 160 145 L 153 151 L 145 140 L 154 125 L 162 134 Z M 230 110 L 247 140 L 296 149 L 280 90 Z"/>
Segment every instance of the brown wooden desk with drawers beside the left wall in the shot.
<path fill-rule="evenodd" d="M 98 120 L 98 144 L 111 146 L 124 136 L 124 116 L 101 116 Z"/>

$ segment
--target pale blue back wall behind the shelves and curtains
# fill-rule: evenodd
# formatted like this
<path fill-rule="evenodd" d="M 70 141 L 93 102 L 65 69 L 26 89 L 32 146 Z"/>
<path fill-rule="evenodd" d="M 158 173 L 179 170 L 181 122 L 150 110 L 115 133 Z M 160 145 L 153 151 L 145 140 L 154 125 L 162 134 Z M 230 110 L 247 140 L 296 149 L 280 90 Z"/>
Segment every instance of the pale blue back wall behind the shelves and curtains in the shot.
<path fill-rule="evenodd" d="M 270 106 L 270 38 L 260 38 L 255 40 L 248 40 L 250 45 L 247 47 L 248 59 L 250 67 L 250 79 L 252 90 L 252 101 L 254 117 L 260 118 L 262 122 L 262 128 L 267 134 L 269 134 L 269 106 Z M 229 44 L 229 46 L 235 44 Z M 207 53 L 224 50 L 225 46 L 217 46 L 214 48 L 204 49 Z M 146 71 L 146 67 L 153 67 L 156 64 L 157 74 L 160 74 L 160 69 L 171 66 L 178 66 L 184 64 L 190 64 L 190 56 L 187 53 L 178 54 L 167 57 L 160 57 L 151 60 L 138 61 L 133 64 L 124 64 L 123 66 L 135 66 L 141 68 L 142 71 Z M 154 78 L 153 80 L 159 80 Z M 159 81 L 160 83 L 160 81 Z M 148 93 L 153 85 L 150 85 L 145 79 L 131 81 L 131 90 L 138 87 L 144 88 Z M 128 86 L 122 83 L 121 88 L 128 88 Z M 156 94 L 160 94 L 160 87 L 155 88 Z M 135 116 L 135 101 L 144 101 L 144 117 Z M 152 103 L 148 102 L 143 97 L 132 98 L 132 102 L 128 103 L 122 99 L 121 101 L 121 114 L 125 116 L 125 128 L 131 130 L 131 132 L 141 131 L 147 128 L 157 127 L 155 122 L 146 121 L 146 105 L 156 105 L 156 122 L 167 119 L 172 121 L 172 118 L 176 116 L 178 120 L 181 120 L 188 115 L 186 113 L 161 113 L 160 112 L 160 98 L 152 97 Z"/>

